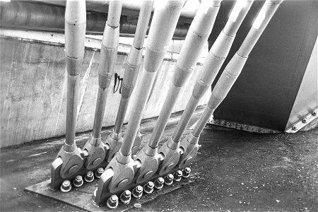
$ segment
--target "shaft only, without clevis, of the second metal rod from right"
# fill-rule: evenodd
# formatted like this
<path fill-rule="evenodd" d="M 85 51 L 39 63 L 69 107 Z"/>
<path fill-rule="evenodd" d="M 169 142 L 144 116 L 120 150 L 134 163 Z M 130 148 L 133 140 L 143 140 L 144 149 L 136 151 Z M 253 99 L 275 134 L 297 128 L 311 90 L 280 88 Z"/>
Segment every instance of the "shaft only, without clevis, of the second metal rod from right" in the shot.
<path fill-rule="evenodd" d="M 192 91 L 192 96 L 187 103 L 187 107 L 182 113 L 182 117 L 172 134 L 172 141 L 179 142 L 184 130 L 186 129 L 192 114 L 196 110 L 199 101 L 204 96 L 206 91 L 211 88 L 220 67 L 222 66 L 225 58 L 228 56 L 230 47 L 235 38 L 238 28 L 240 27 L 242 21 L 244 20 L 247 11 L 249 11 L 252 1 L 237 1 L 228 22 L 223 28 L 222 32 L 218 36 L 216 42 L 204 61 L 204 65 L 201 69 L 201 74 L 199 78 L 196 79 L 194 89 Z"/>

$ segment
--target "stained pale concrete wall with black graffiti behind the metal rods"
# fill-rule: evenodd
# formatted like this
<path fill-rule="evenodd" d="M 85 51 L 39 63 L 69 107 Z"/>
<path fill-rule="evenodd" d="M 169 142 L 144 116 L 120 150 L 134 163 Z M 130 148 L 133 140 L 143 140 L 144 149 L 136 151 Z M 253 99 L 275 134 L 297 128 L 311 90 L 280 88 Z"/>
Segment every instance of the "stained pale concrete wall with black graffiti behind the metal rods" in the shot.
<path fill-rule="evenodd" d="M 54 35 L 55 36 L 55 35 Z M 52 34 L 53 37 L 53 34 Z M 64 44 L 1 36 L 1 147 L 65 134 L 66 66 Z M 129 50 L 129 48 L 126 48 Z M 172 48 L 173 49 L 173 48 Z M 117 55 L 115 73 L 122 78 L 126 51 Z M 81 100 L 78 102 L 77 131 L 93 127 L 98 91 L 99 49 L 87 48 L 81 70 Z M 171 54 L 172 58 L 176 57 Z M 175 59 L 165 59 L 155 82 L 153 95 L 143 118 L 158 116 L 165 93 L 172 80 Z M 201 64 L 181 92 L 175 112 L 184 110 Z M 118 83 L 118 81 L 117 81 Z M 137 82 L 138 83 L 138 82 Z M 119 89 L 113 90 L 114 77 L 107 99 L 103 126 L 112 126 L 119 105 Z M 117 85 L 115 85 L 117 87 Z M 119 86 L 120 87 L 120 86 Z M 200 102 L 204 104 L 208 95 Z M 133 95 L 134 96 L 134 93 Z M 129 111 L 129 109 L 128 109 Z M 129 112 L 128 112 L 129 114 Z M 128 115 L 127 114 L 127 115 Z M 126 120 L 127 120 L 126 116 Z"/>

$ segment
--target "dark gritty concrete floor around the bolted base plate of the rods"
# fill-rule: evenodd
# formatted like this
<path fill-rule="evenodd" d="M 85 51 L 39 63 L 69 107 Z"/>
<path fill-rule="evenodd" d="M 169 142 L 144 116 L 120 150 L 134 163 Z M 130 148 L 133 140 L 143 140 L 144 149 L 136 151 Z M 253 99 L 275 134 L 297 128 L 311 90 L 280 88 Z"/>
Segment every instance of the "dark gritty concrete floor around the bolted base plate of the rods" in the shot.
<path fill-rule="evenodd" d="M 172 117 L 163 141 L 172 134 Z M 193 124 L 198 114 L 192 119 Z M 155 119 L 143 121 L 147 141 Z M 110 129 L 105 129 L 108 134 Z M 189 131 L 187 131 L 189 133 Z M 78 134 L 79 147 L 90 132 Z M 205 129 L 191 184 L 133 211 L 318 211 L 318 129 L 298 134 L 252 134 Z M 24 187 L 49 179 L 64 138 L 0 149 L 1 211 L 81 211 Z M 144 145 L 144 143 L 143 143 Z"/>

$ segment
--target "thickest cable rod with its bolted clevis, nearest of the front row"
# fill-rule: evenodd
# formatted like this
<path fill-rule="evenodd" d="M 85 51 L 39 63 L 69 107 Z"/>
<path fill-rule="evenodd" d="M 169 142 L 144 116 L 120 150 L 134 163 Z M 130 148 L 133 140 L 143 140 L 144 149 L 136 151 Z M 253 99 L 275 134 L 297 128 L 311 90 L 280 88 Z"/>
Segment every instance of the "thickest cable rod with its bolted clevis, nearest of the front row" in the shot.
<path fill-rule="evenodd" d="M 131 148 L 151 92 L 155 73 L 165 57 L 183 4 L 184 1 L 163 1 L 163 4 L 155 9 L 148 34 L 143 71 L 136 87 L 136 100 L 132 105 L 122 147 L 100 176 L 98 189 L 93 197 L 98 205 L 105 204 L 112 194 L 124 192 L 126 187 L 134 182 L 139 165 L 131 158 Z"/>

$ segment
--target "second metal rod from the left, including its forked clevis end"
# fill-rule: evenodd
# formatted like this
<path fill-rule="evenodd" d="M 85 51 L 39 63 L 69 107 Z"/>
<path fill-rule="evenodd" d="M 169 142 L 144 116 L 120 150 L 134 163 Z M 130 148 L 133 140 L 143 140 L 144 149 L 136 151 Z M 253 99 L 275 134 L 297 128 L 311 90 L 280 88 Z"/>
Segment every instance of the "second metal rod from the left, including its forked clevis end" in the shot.
<path fill-rule="evenodd" d="M 107 93 L 110 88 L 110 81 L 114 73 L 114 65 L 117 59 L 117 48 L 119 45 L 119 20 L 122 12 L 122 1 L 111 1 L 105 24 L 104 35 L 102 36 L 102 47 L 100 49 L 100 64 L 98 66 L 98 98 L 96 102 L 93 133 L 83 147 L 88 158 L 85 163 L 87 170 L 93 170 L 105 164 L 105 158 L 114 149 L 112 143 L 103 143 L 100 131 L 102 120 L 105 114 Z M 104 167 L 105 167 L 104 166 Z"/>

